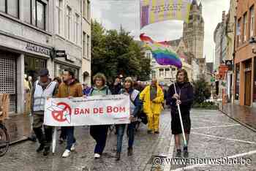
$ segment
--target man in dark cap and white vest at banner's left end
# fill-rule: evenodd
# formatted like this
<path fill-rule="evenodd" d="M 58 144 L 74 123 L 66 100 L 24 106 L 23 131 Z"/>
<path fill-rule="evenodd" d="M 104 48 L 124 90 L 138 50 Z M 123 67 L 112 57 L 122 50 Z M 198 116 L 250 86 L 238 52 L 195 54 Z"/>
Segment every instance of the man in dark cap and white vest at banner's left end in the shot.
<path fill-rule="evenodd" d="M 31 93 L 31 113 L 34 115 L 33 130 L 39 141 L 37 152 L 44 150 L 43 155 L 50 153 L 50 143 L 52 141 L 53 129 L 44 125 L 45 134 L 42 132 L 44 121 L 45 99 L 56 96 L 58 93 L 58 83 L 50 80 L 48 69 L 39 71 L 39 80 L 34 83 Z"/>

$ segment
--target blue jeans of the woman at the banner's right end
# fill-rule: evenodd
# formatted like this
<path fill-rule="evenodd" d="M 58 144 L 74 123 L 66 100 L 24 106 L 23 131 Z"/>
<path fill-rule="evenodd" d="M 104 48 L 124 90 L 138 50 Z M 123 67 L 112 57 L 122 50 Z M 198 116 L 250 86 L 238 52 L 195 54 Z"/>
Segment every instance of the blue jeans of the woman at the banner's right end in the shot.
<path fill-rule="evenodd" d="M 121 147 L 123 144 L 124 130 L 127 124 L 118 125 L 117 129 L 117 152 L 121 153 Z M 134 138 L 135 138 L 135 122 L 129 123 L 127 126 L 128 134 L 128 148 L 132 148 Z"/>

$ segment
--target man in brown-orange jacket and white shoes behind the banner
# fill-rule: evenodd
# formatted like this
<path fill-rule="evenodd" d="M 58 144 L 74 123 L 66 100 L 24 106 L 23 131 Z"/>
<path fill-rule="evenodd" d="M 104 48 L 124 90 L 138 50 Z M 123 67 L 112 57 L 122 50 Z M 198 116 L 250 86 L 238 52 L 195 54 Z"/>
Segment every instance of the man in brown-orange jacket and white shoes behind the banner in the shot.
<path fill-rule="evenodd" d="M 78 80 L 75 79 L 74 72 L 70 70 L 64 70 L 63 83 L 59 86 L 58 97 L 59 98 L 72 98 L 83 96 L 83 88 Z M 71 151 L 75 151 L 75 137 L 74 126 L 65 126 L 62 130 L 67 136 L 66 150 L 62 154 L 62 157 L 70 156 Z"/>

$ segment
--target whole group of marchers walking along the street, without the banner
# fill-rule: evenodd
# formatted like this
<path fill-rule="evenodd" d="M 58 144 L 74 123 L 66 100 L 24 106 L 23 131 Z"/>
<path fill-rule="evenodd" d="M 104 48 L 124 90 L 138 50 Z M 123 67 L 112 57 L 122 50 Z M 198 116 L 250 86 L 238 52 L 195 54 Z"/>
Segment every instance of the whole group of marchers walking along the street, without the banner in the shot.
<path fill-rule="evenodd" d="M 43 155 L 50 153 L 53 128 L 43 124 L 45 99 L 49 97 L 73 98 L 80 96 L 108 96 L 111 94 L 126 94 L 130 99 L 130 123 L 116 125 L 116 161 L 120 160 L 121 148 L 124 137 L 124 130 L 127 127 L 128 136 L 128 156 L 133 154 L 133 144 L 135 141 L 135 121 L 143 113 L 146 115 L 148 134 L 159 134 L 159 116 L 162 113 L 164 102 L 171 108 L 171 129 L 175 135 L 177 157 L 181 157 L 181 122 L 178 117 L 179 104 L 181 107 L 182 121 L 186 139 L 189 140 L 191 127 L 189 111 L 193 101 L 193 88 L 189 83 L 187 72 L 179 69 L 176 75 L 175 85 L 171 85 L 168 91 L 163 91 L 157 79 L 152 79 L 151 84 L 145 88 L 135 84 L 132 77 L 116 77 L 115 83 L 107 86 L 107 78 L 102 73 L 97 73 L 93 77 L 93 86 L 86 83 L 79 83 L 74 72 L 65 70 L 62 78 L 50 79 L 48 69 L 39 71 L 39 79 L 34 82 L 31 93 L 31 113 L 34 116 L 33 130 L 39 142 L 37 152 L 43 151 Z M 177 90 L 176 90 L 177 89 Z M 96 141 L 94 148 L 94 158 L 99 159 L 104 151 L 108 137 L 109 125 L 90 126 L 90 135 Z M 67 141 L 62 157 L 68 157 L 71 151 L 75 151 L 76 139 L 74 136 L 74 126 L 61 127 L 60 142 Z M 183 148 L 184 157 L 189 155 L 187 145 Z"/>

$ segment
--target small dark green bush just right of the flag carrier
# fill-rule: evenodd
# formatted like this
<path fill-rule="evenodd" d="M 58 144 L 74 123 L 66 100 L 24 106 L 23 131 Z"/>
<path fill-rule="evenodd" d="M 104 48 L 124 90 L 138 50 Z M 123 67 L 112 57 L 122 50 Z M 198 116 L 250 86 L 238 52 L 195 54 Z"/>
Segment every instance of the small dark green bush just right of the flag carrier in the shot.
<path fill-rule="evenodd" d="M 194 83 L 194 103 L 195 104 L 201 104 L 206 99 L 209 99 L 211 96 L 211 86 L 208 85 L 206 80 L 201 77 L 199 80 L 196 80 Z"/>

